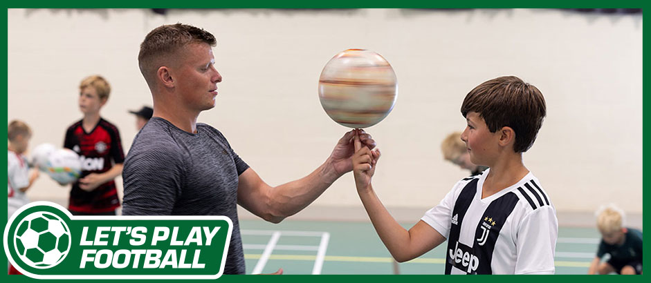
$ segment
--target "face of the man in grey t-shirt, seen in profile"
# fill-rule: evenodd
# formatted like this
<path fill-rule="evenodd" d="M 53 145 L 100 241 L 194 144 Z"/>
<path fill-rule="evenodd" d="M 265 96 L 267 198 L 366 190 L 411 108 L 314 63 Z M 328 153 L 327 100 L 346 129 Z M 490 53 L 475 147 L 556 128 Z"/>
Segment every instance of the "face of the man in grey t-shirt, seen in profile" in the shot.
<path fill-rule="evenodd" d="M 213 108 L 221 75 L 214 68 L 212 47 L 208 43 L 190 43 L 178 53 L 178 64 L 170 70 L 176 93 L 190 110 Z"/>

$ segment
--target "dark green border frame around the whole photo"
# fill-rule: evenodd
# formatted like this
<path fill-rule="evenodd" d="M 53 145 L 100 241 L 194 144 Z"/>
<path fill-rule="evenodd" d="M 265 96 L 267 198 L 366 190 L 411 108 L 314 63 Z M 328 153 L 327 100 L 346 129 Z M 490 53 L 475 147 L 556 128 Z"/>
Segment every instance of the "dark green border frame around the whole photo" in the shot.
<path fill-rule="evenodd" d="M 434 1 L 424 1 L 424 0 L 401 0 L 401 1 L 387 1 L 387 0 L 358 0 L 358 1 L 342 1 L 342 0 L 329 0 L 329 1 L 305 1 L 305 0 L 291 0 L 291 1 L 214 1 L 214 2 L 204 2 L 204 1 L 124 1 L 117 0 L 111 1 L 109 3 L 95 2 L 95 1 L 29 1 L 24 3 L 6 3 L 6 8 L 152 8 L 152 7 L 165 7 L 165 8 L 279 8 L 279 9 L 320 9 L 320 8 L 586 8 L 586 7 L 606 7 L 606 8 L 643 8 L 650 6 L 651 2 L 643 1 L 546 1 L 546 2 L 531 2 L 527 3 L 524 1 L 460 1 L 460 2 L 444 2 L 437 3 Z M 0 13 L 1 20 L 5 25 L 8 24 L 8 12 L 4 11 Z M 643 45 L 648 41 L 648 35 L 644 28 L 643 22 Z M 2 45 L 4 52 L 7 52 L 7 28 L 3 28 L 3 39 L 5 44 Z M 645 50 L 647 48 L 644 48 Z M 2 64 L 7 66 L 7 57 L 3 57 Z M 650 66 L 649 57 L 643 57 L 643 72 L 646 68 Z M 2 74 L 5 81 L 5 88 L 2 92 L 4 99 L 2 99 L 2 104 L 4 105 L 3 109 L 7 109 L 8 105 L 8 89 L 7 89 L 7 68 L 3 68 Z M 643 83 L 649 81 L 650 75 L 648 73 L 643 73 Z M 37 82 L 35 82 L 37 84 Z M 643 88 L 643 97 L 645 93 Z M 650 99 L 643 99 L 643 109 L 647 108 Z M 648 130 L 648 115 L 643 115 L 643 139 L 645 139 Z M 5 123 L 2 124 L 3 132 L 6 132 L 6 126 L 8 121 L 5 116 Z M 589 141 L 587 141 L 589 142 Z M 646 143 L 643 141 L 643 146 Z M 1 151 L 1 150 L 0 150 Z M 4 153 L 4 151 L 1 151 Z M 634 155 L 637 153 L 623 153 Z M 648 153 L 645 153 L 643 150 L 643 163 L 648 156 Z M 651 172 L 647 174 L 649 170 L 643 168 L 643 176 L 651 176 Z M 4 175 L 3 175 L 4 177 Z M 3 178 L 6 181 L 6 178 Z M 648 182 L 643 182 L 643 190 L 648 187 Z M 643 196 L 644 200 L 648 198 Z M 1 212 L 2 217 L 6 216 L 7 211 L 3 210 Z M 647 211 L 643 211 L 643 223 L 649 222 L 646 219 L 646 215 L 649 214 Z M 4 229 L 4 226 L 2 226 Z M 650 239 L 651 236 L 647 235 L 644 237 L 646 240 Z M 4 251 L 1 252 L 4 256 Z M 650 251 L 647 249 L 644 252 L 643 257 L 649 258 L 648 254 Z M 220 277 L 219 281 L 221 282 L 261 282 L 272 283 L 272 282 L 284 282 L 284 283 L 303 283 L 306 281 L 309 282 L 333 282 L 333 281 L 345 281 L 345 282 L 432 282 L 437 280 L 454 280 L 455 282 L 470 282 L 470 280 L 488 280 L 488 281 L 504 281 L 504 282 L 520 282 L 524 279 L 522 276 L 513 276 L 513 275 L 493 275 L 486 277 L 485 275 L 480 275 L 479 277 L 443 277 L 444 275 L 281 275 L 281 276 L 272 276 L 272 275 L 223 275 Z M 608 277 L 608 276 L 592 276 L 586 278 L 588 275 L 553 275 L 553 277 L 546 277 L 540 275 L 534 275 L 533 277 L 527 277 L 526 281 L 533 282 L 549 282 L 549 280 L 554 281 L 575 281 L 575 280 L 594 280 L 596 282 L 611 282 L 612 280 L 621 280 L 621 278 Z M 643 282 L 645 275 L 626 277 L 627 281 L 630 282 Z M 6 274 L 0 275 L 1 282 L 36 282 L 37 280 L 31 279 L 23 276 L 9 276 Z M 61 282 L 62 280 L 57 280 Z M 64 280 L 70 281 L 70 280 Z M 93 282 L 96 280 L 75 280 L 73 282 Z M 151 282 L 152 280 L 120 280 L 120 282 Z M 199 280 L 200 282 L 203 280 Z M 645 281 L 645 280 L 644 280 Z M 113 280 L 102 280 L 102 282 L 113 282 Z M 176 280 L 165 280 L 165 282 L 176 282 Z"/>

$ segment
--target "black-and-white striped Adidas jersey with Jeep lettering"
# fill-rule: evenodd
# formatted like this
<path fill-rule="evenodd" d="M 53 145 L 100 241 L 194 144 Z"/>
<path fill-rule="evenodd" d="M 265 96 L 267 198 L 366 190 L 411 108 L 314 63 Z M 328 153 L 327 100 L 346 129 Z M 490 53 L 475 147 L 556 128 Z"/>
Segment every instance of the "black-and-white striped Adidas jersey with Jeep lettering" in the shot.
<path fill-rule="evenodd" d="M 558 219 L 530 172 L 482 199 L 490 173 L 457 182 L 421 220 L 448 239 L 446 274 L 553 274 Z"/>

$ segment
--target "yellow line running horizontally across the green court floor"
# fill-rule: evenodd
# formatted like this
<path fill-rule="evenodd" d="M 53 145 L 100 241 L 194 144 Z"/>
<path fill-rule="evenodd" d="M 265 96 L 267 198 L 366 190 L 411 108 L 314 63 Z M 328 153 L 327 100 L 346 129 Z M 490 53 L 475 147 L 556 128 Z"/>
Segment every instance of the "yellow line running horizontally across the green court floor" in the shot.
<path fill-rule="evenodd" d="M 262 255 L 245 254 L 247 260 L 257 260 Z M 270 260 L 316 260 L 315 255 L 270 255 Z M 327 262 L 393 262 L 391 257 L 349 257 L 340 255 L 326 255 L 324 260 Z M 446 260 L 442 258 L 416 258 L 410 260 L 410 263 L 419 264 L 445 264 Z M 554 265 L 563 267 L 589 267 L 590 262 L 561 262 L 555 261 Z"/>

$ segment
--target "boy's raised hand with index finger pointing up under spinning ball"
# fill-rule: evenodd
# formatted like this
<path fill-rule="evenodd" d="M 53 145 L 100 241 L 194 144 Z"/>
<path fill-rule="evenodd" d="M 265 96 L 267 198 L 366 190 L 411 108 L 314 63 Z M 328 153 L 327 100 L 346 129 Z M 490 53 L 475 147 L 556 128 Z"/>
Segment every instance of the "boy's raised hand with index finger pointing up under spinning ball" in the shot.
<path fill-rule="evenodd" d="M 380 159 L 380 150 L 375 148 L 370 150 L 367 146 L 362 146 L 360 142 L 359 133 L 356 130 L 353 143 L 355 146 L 355 153 L 353 159 L 353 173 L 355 177 L 355 185 L 358 190 L 367 190 L 371 185 L 371 178 L 375 173 L 375 166 Z"/>

